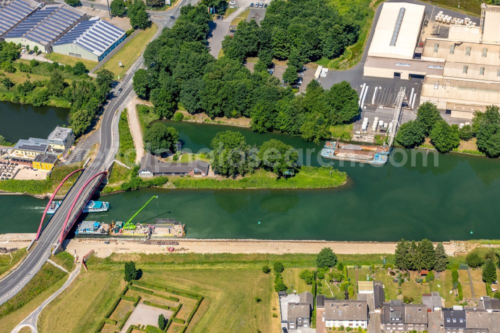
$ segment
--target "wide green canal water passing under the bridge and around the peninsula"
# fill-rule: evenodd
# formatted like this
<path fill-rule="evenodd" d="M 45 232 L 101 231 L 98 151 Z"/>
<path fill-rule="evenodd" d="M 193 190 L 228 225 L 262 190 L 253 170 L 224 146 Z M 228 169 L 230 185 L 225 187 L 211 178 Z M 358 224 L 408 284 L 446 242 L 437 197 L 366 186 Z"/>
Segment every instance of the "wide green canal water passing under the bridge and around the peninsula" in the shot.
<path fill-rule="evenodd" d="M 168 123 L 179 130 L 183 149 L 192 151 L 206 148 L 216 132 L 228 129 Z M 136 221 L 176 218 L 186 224 L 188 237 L 380 241 L 401 237 L 500 238 L 498 160 L 399 149 L 391 154 L 391 163 L 382 167 L 339 166 L 338 161 L 318 159 L 320 146 L 300 138 L 235 129 L 250 144 L 279 138 L 299 149 L 313 149 L 311 153 L 303 151 L 302 161 L 312 155 L 312 165 L 334 162 L 347 172 L 349 181 L 339 188 L 320 190 L 145 189 L 102 196 L 111 209 L 85 218 L 127 220 L 151 195 L 158 195 Z M 424 159 L 427 166 L 423 166 Z M 36 231 L 45 203 L 26 196 L 0 195 L 0 233 Z"/>

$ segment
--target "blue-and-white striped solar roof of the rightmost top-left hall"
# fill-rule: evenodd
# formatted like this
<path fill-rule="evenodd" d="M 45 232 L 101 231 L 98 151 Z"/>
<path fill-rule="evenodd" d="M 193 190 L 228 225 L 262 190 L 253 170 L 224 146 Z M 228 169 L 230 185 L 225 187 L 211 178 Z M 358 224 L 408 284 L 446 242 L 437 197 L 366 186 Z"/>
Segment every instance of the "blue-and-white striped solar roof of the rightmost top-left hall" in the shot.
<path fill-rule="evenodd" d="M 104 53 L 125 31 L 102 19 L 78 23 L 54 43 L 54 46 L 75 43 L 96 55 Z"/>

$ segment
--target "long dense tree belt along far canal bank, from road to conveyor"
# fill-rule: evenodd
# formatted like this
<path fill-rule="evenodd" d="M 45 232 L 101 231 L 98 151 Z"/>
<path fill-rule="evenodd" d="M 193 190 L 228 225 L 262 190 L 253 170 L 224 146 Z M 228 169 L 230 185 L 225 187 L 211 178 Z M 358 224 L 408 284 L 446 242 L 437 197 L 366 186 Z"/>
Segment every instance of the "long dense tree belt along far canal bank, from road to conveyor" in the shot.
<path fill-rule="evenodd" d="M 329 137 L 330 125 L 359 115 L 357 94 L 347 82 L 324 90 L 312 81 L 304 94 L 295 96 L 266 71 L 251 73 L 245 68 L 242 58 L 248 53 L 243 54 L 237 44 L 260 58 L 269 47 L 270 34 L 254 22 L 242 23 L 248 33 L 224 41 L 232 55 L 216 60 L 206 48 L 210 21 L 205 6 L 183 6 L 174 26 L 146 47 L 144 60 L 149 67 L 136 71 L 133 88 L 140 98 L 152 101 L 160 117 L 170 118 L 180 103 L 189 113 L 246 116 L 255 131 L 277 130 L 318 142 Z M 258 38 L 252 38 L 254 32 Z M 266 56 L 270 62 L 272 55 Z"/>

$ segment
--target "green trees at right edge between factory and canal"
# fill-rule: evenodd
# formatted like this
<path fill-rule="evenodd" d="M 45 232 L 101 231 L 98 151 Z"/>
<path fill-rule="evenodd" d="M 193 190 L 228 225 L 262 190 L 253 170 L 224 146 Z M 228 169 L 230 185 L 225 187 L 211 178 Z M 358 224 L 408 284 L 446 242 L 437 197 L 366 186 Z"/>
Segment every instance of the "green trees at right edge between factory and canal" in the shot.
<path fill-rule="evenodd" d="M 498 106 L 489 105 L 484 114 L 474 116 L 473 127 L 477 128 L 477 148 L 489 157 L 500 156 L 500 114 Z"/>

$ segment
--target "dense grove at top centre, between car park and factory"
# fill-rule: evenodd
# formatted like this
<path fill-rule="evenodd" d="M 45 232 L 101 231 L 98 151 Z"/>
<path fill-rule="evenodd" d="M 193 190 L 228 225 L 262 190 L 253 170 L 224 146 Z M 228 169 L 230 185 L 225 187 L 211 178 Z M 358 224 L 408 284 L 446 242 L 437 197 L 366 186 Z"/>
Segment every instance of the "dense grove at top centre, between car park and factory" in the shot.
<path fill-rule="evenodd" d="M 234 36 L 226 36 L 224 54 L 241 61 L 258 56 L 256 70 L 263 70 L 272 57 L 288 59 L 283 80 L 292 82 L 309 61 L 338 57 L 359 34 L 359 22 L 368 15 L 364 6 L 349 6 L 345 15 L 327 0 L 274 0 L 266 10 L 261 27 L 241 21 Z"/>

